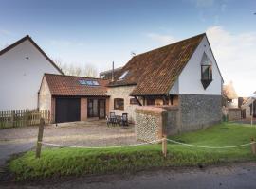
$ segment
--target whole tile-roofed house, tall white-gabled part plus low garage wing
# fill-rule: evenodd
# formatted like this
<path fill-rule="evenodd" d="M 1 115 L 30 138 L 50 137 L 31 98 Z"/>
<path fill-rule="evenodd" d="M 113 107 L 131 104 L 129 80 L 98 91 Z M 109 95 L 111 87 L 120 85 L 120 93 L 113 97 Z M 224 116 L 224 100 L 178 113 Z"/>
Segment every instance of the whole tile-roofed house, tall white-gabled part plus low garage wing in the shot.
<path fill-rule="evenodd" d="M 113 80 L 45 74 L 39 108 L 51 110 L 52 122 L 104 118 L 109 112 L 127 112 L 136 122 L 138 107 L 177 107 L 178 124 L 198 129 L 221 121 L 222 86 L 210 43 L 200 34 L 134 56 Z"/>

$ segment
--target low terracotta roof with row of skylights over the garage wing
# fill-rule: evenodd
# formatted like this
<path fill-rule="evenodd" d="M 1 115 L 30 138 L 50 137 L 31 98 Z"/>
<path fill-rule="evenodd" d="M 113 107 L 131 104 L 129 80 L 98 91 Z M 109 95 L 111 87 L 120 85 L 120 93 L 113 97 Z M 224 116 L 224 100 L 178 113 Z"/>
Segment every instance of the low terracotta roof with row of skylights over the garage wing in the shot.
<path fill-rule="evenodd" d="M 107 80 L 91 77 L 73 77 L 45 74 L 46 81 L 52 95 L 68 96 L 107 96 Z M 79 80 L 98 81 L 99 86 L 81 85 Z"/>

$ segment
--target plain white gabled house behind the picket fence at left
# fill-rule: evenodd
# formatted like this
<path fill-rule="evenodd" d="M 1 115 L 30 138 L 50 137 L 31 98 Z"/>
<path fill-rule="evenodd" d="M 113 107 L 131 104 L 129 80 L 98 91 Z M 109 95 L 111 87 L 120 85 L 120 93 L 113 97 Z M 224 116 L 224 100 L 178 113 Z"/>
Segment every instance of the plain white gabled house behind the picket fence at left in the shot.
<path fill-rule="evenodd" d="M 36 109 L 44 73 L 63 74 L 27 35 L 0 51 L 0 110 Z"/>

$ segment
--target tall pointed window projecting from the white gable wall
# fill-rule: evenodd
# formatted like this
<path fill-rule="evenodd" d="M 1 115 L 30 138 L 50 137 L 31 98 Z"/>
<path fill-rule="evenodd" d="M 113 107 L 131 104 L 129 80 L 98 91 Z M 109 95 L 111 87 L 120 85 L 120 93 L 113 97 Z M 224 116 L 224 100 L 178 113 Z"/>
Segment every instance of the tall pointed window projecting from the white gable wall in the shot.
<path fill-rule="evenodd" d="M 206 89 L 212 81 L 212 63 L 206 53 L 203 54 L 201 60 L 201 82 Z"/>

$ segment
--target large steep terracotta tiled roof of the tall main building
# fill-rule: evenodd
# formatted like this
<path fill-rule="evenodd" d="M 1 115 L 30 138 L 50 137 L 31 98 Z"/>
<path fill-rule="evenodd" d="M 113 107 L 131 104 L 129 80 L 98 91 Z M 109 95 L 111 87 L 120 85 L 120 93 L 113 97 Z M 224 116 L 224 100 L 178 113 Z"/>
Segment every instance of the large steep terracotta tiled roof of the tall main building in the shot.
<path fill-rule="evenodd" d="M 204 36 L 200 34 L 135 56 L 109 86 L 137 85 L 131 95 L 168 94 Z M 128 74 L 120 80 L 126 71 Z"/>

